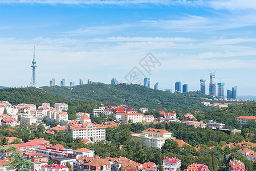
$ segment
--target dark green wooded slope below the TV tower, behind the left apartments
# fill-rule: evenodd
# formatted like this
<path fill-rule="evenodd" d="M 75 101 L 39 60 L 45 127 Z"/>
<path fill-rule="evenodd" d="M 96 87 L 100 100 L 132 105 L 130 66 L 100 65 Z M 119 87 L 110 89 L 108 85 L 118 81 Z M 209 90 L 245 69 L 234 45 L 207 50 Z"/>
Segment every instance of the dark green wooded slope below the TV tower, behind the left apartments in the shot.
<path fill-rule="evenodd" d="M 92 113 L 94 108 L 99 108 L 100 102 L 93 100 L 70 100 L 46 92 L 36 91 L 31 88 L 3 88 L 0 89 L 0 100 L 9 101 L 13 105 L 32 103 L 37 107 L 42 103 L 67 103 L 69 119 L 76 118 L 76 112 Z"/>

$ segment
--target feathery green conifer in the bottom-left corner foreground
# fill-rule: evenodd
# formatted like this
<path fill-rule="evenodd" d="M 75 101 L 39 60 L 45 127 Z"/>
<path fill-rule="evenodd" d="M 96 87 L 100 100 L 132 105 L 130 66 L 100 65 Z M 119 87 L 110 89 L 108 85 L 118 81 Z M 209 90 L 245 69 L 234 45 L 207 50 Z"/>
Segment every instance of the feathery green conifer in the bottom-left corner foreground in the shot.
<path fill-rule="evenodd" d="M 17 150 L 17 148 L 13 145 L 0 148 L 0 152 L 6 153 L 7 158 L 10 158 L 9 166 L 7 167 L 7 169 L 28 171 L 30 170 L 30 166 L 34 165 L 34 162 L 23 158 L 20 153 L 21 151 Z"/>

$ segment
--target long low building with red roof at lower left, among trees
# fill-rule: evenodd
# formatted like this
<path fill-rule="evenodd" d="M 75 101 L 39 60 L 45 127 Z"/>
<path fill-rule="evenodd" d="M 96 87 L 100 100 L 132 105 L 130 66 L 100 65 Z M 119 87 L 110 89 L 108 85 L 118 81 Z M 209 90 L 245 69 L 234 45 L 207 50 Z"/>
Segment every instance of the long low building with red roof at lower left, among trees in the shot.
<path fill-rule="evenodd" d="M 17 147 L 18 150 L 21 150 L 22 152 L 36 152 L 36 149 L 38 148 L 44 148 L 50 146 L 50 141 L 46 141 L 43 138 L 41 139 L 34 139 L 30 140 L 27 143 L 22 144 L 11 144 Z M 4 147 L 10 146 L 10 145 L 3 145 Z"/>

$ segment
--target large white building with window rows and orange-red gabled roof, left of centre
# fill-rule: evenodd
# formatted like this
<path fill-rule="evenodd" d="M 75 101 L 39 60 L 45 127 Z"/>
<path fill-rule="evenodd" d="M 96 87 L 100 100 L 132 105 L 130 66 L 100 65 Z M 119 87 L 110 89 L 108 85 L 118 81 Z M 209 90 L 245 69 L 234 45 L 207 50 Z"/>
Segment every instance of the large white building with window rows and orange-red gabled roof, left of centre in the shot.
<path fill-rule="evenodd" d="M 92 137 L 94 142 L 105 141 L 105 127 L 99 124 L 92 124 L 91 122 L 76 125 L 68 124 L 67 132 L 71 133 L 74 139 L 90 140 Z"/>

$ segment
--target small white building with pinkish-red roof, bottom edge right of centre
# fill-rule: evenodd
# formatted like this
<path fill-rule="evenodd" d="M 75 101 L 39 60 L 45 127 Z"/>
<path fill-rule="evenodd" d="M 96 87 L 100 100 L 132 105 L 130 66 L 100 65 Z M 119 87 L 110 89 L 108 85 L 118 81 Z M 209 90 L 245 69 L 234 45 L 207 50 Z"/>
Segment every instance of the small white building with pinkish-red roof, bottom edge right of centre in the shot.
<path fill-rule="evenodd" d="M 177 169 L 180 170 L 181 161 L 178 158 L 175 157 L 166 157 L 164 160 L 162 160 L 162 168 L 164 170 L 171 170 L 176 171 Z M 157 171 L 157 165 L 153 166 L 153 171 Z"/>

